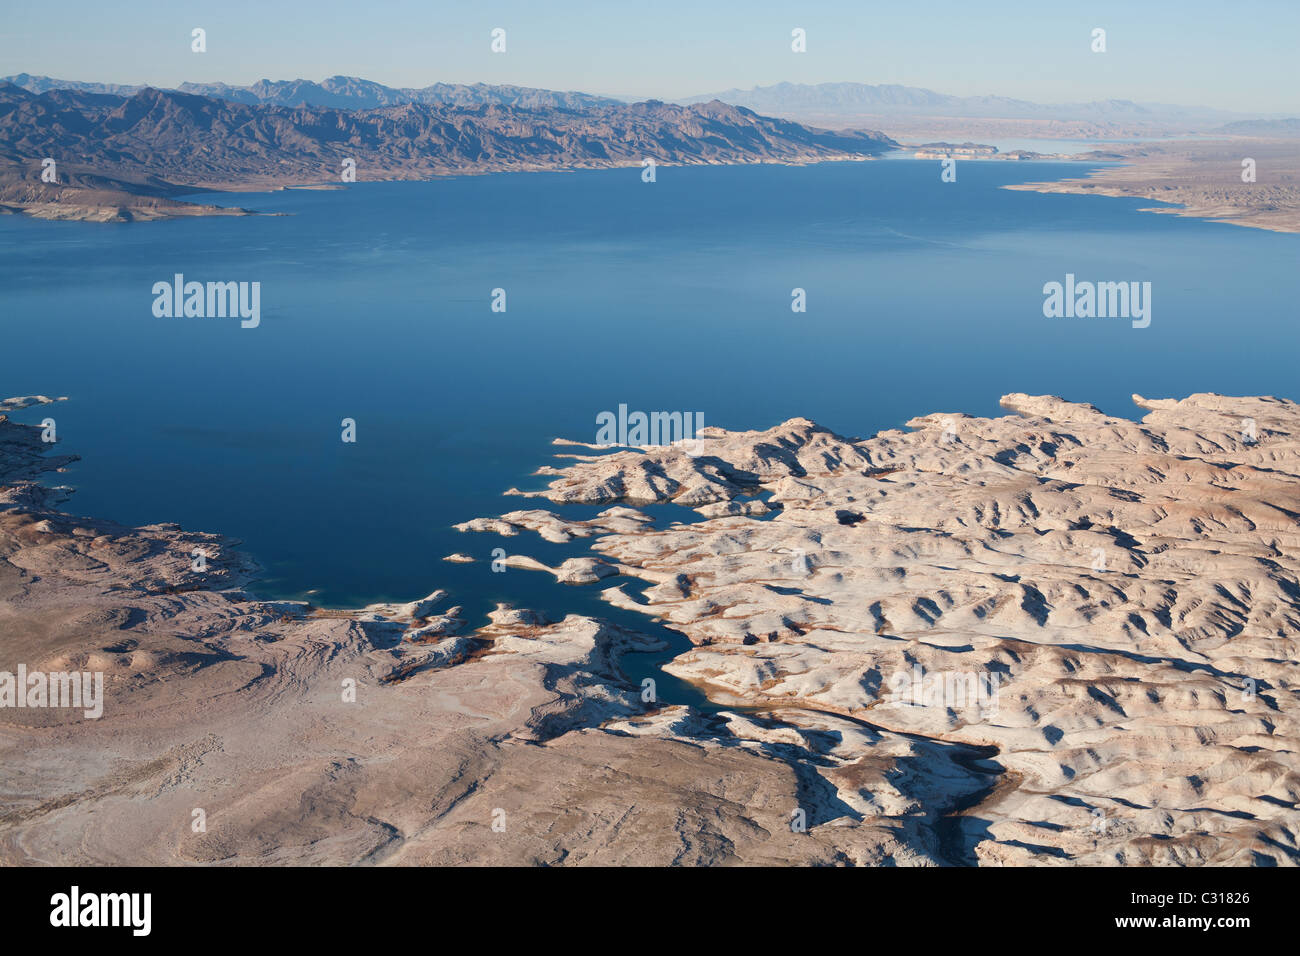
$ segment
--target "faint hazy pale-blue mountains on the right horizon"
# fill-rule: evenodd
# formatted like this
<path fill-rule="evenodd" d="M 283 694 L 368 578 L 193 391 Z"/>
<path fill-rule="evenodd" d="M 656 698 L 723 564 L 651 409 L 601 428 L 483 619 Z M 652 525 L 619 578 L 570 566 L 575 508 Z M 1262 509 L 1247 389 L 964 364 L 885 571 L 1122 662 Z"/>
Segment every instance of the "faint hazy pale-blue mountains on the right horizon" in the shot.
<path fill-rule="evenodd" d="M 870 83 L 776 83 L 751 90 L 724 90 L 703 96 L 688 96 L 680 103 L 722 100 L 760 113 L 779 116 L 944 116 L 1002 120 L 1086 120 L 1086 121 L 1182 121 L 1226 122 L 1257 117 L 1206 107 L 1178 107 L 1165 103 L 1097 100 L 1093 103 L 1041 104 L 1006 96 L 950 96 L 916 86 Z"/>

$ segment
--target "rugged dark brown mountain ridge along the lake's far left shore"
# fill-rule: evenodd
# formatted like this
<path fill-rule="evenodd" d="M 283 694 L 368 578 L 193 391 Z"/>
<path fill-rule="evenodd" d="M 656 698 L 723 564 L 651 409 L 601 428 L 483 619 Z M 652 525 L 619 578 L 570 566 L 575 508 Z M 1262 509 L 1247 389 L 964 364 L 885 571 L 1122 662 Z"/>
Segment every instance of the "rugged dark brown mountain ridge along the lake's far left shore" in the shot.
<path fill-rule="evenodd" d="M 667 165 L 812 163 L 897 146 L 883 133 L 819 130 L 716 101 L 598 100 L 581 109 L 495 101 L 540 101 L 546 94 L 517 87 L 480 87 L 481 103 L 368 109 L 108 90 L 34 94 L 0 83 L 0 207 L 70 203 L 75 189 L 86 189 L 96 191 L 94 216 L 113 219 L 104 207 L 114 190 L 129 206 L 130 195 L 165 198 L 200 187 L 337 183 L 344 159 L 365 181 L 610 168 L 645 157 Z M 57 190 L 40 182 L 44 157 L 57 161 Z M 159 217 L 159 204 L 144 215 Z"/>

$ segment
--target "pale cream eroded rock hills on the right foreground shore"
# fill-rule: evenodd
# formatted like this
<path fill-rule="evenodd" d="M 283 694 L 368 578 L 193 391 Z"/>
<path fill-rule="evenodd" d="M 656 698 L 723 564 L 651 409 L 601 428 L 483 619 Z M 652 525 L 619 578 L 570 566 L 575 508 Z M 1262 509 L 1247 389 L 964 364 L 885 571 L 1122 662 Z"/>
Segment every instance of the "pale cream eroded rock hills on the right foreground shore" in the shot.
<path fill-rule="evenodd" d="M 688 635 L 667 670 L 716 701 L 991 748 L 970 861 L 1296 862 L 1300 407 L 1134 401 L 1140 423 L 1017 394 L 868 441 L 707 429 L 540 494 L 779 507 L 601 536 L 650 584 L 606 597 Z"/>

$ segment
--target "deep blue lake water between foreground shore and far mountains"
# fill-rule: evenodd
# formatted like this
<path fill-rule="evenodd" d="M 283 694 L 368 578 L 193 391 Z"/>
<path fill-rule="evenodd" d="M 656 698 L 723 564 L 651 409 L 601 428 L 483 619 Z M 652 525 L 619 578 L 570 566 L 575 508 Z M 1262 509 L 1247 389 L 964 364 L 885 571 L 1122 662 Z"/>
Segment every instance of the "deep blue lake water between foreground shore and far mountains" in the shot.
<path fill-rule="evenodd" d="M 450 525 L 530 507 L 500 492 L 619 403 L 866 436 L 1008 392 L 1118 415 L 1134 392 L 1296 397 L 1300 237 L 998 189 L 1086 169 L 524 173 L 220 198 L 285 216 L 0 217 L 0 394 L 70 398 L 16 416 L 82 455 L 69 507 L 229 533 L 264 593 L 526 604 L 543 576 L 443 562 L 502 544 Z M 261 282 L 260 328 L 155 317 L 177 272 Z M 1067 272 L 1152 282 L 1150 326 L 1044 319 Z"/>

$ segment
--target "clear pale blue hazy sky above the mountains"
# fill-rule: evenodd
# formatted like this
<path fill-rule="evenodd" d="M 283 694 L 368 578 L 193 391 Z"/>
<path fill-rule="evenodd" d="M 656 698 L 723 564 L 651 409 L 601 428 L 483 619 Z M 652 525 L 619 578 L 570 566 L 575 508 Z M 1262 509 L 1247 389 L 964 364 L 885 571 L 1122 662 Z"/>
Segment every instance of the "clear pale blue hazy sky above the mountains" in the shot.
<path fill-rule="evenodd" d="M 360 75 L 672 99 L 854 81 L 1040 103 L 1300 113 L 1300 0 L 6 0 L 0 75 L 176 86 Z M 993 12 L 989 12 L 992 8 Z M 208 52 L 190 51 L 204 27 Z M 490 51 L 503 27 L 507 52 Z M 807 52 L 790 52 L 790 30 Z M 1106 30 L 1108 52 L 1089 48 Z"/>

